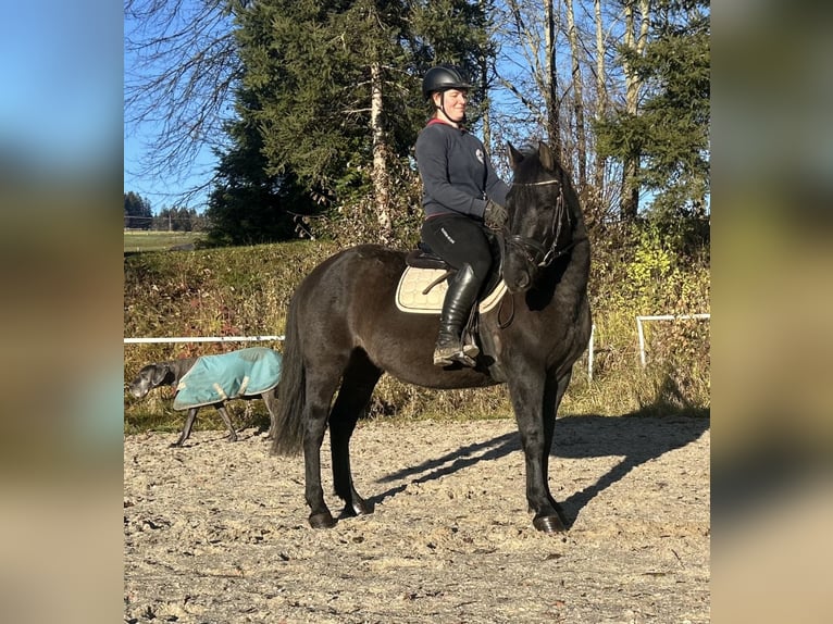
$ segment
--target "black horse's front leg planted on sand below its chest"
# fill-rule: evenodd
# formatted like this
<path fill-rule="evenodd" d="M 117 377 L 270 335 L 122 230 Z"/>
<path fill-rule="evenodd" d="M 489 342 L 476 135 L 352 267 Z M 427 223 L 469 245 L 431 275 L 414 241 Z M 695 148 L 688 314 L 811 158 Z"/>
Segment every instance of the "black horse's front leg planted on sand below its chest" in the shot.
<path fill-rule="evenodd" d="M 565 526 L 549 492 L 548 455 L 555 427 L 551 409 L 558 392 L 547 386 L 542 375 L 522 375 L 510 385 L 510 396 L 524 452 L 526 500 L 535 513 L 533 525 L 538 531 L 555 533 L 564 531 Z"/>

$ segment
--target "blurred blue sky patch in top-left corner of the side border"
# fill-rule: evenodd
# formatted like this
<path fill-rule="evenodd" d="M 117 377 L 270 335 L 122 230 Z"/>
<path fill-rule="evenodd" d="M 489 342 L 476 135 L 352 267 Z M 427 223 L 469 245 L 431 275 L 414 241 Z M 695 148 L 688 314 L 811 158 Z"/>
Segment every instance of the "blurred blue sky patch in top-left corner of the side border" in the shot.
<path fill-rule="evenodd" d="M 114 28 L 121 11 L 121 5 L 97 0 L 4 3 L 0 21 L 4 152 L 59 171 L 98 167 L 104 159 L 112 162 L 122 121 L 122 34 Z"/>

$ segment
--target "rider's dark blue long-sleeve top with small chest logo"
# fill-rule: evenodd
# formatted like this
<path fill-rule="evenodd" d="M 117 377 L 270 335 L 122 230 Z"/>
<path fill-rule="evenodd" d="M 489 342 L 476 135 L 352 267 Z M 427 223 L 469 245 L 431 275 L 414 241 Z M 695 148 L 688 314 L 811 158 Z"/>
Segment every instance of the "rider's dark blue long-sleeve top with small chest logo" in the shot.
<path fill-rule="evenodd" d="M 506 205 L 509 187 L 498 177 L 477 137 L 432 120 L 420 132 L 415 151 L 426 217 L 458 212 L 483 219 L 487 197 Z"/>

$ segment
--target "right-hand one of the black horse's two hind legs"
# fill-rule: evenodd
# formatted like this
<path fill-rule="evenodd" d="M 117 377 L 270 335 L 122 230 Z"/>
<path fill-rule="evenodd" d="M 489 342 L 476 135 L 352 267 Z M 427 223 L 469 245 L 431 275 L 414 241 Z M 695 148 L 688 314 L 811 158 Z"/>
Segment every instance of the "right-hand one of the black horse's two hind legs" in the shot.
<path fill-rule="evenodd" d="M 341 389 L 330 415 L 330 439 L 333 457 L 333 485 L 344 499 L 344 515 L 373 513 L 373 507 L 359 496 L 350 470 L 350 436 L 368 408 L 382 371 L 363 351 L 355 351 L 344 374 Z"/>

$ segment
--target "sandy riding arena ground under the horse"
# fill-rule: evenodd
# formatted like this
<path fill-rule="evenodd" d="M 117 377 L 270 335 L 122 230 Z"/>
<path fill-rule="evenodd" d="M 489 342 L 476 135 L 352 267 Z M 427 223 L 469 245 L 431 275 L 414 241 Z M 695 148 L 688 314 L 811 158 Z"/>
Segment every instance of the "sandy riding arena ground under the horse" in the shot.
<path fill-rule="evenodd" d="M 559 535 L 532 526 L 512 420 L 360 423 L 353 476 L 375 513 L 325 531 L 307 524 L 300 457 L 224 436 L 125 438 L 125 622 L 710 620 L 708 419 L 560 419 Z M 322 458 L 330 492 L 327 442 Z"/>

